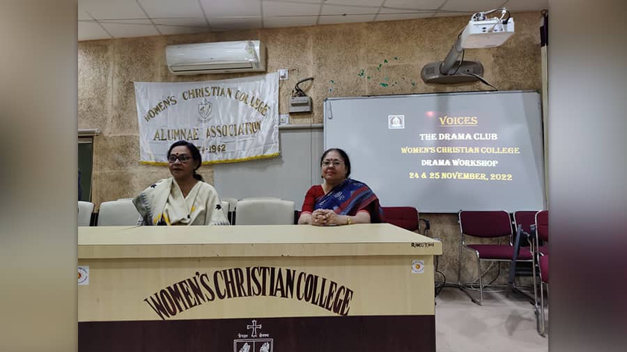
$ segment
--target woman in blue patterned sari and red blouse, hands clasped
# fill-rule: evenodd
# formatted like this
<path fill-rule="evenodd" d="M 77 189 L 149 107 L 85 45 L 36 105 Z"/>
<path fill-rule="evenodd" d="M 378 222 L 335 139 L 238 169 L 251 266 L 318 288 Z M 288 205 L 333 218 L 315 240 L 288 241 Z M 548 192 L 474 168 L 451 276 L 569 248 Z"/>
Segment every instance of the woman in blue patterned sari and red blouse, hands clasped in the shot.
<path fill-rule="evenodd" d="M 350 160 L 341 149 L 332 148 L 320 159 L 323 184 L 311 186 L 298 218 L 299 225 L 350 225 L 381 223 L 379 200 L 363 182 L 350 179 Z"/>

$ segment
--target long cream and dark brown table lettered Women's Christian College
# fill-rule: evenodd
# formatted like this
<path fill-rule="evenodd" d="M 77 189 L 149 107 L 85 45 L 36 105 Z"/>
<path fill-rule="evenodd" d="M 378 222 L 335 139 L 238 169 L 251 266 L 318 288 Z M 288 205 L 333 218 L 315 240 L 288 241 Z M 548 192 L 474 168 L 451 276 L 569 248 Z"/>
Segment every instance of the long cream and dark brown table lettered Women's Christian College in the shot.
<path fill-rule="evenodd" d="M 435 351 L 440 254 L 389 224 L 79 227 L 79 351 Z"/>

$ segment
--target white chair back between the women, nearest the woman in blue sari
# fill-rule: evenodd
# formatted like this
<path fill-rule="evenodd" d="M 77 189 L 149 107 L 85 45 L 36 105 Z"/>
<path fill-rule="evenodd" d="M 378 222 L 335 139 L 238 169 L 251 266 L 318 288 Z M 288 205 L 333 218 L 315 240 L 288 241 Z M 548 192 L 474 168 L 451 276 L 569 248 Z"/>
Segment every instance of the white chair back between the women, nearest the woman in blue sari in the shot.
<path fill-rule="evenodd" d="M 235 225 L 293 225 L 294 202 L 279 199 L 240 200 Z"/>

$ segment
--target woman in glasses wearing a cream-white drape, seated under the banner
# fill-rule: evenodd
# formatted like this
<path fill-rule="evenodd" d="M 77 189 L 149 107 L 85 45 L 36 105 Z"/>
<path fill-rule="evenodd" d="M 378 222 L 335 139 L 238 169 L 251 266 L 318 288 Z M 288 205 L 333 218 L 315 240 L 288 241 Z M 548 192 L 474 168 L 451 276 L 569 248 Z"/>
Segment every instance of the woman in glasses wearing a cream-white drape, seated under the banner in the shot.
<path fill-rule="evenodd" d="M 168 150 L 172 177 L 160 179 L 133 199 L 139 225 L 229 225 L 215 188 L 196 173 L 201 154 L 187 141 Z"/>

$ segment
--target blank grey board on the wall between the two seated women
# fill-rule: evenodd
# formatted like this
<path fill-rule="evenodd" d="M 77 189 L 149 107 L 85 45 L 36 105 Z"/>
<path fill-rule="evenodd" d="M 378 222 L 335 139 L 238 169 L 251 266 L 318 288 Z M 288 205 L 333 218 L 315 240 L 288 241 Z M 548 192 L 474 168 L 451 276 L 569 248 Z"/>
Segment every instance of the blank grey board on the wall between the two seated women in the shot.
<path fill-rule="evenodd" d="M 279 157 L 214 166 L 214 186 L 219 195 L 278 197 L 292 200 L 300 209 L 309 187 L 321 182 L 322 127 L 279 127 L 279 151 Z"/>

